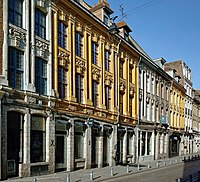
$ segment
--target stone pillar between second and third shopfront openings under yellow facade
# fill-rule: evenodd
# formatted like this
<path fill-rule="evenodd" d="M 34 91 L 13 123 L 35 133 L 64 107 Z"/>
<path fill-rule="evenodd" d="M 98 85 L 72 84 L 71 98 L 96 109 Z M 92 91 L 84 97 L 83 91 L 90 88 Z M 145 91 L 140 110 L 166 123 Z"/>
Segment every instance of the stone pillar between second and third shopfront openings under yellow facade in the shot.
<path fill-rule="evenodd" d="M 92 149 L 91 148 L 92 143 L 92 128 L 88 127 L 85 131 L 85 138 L 84 138 L 84 147 L 85 147 L 85 168 L 90 169 L 91 168 L 91 161 L 92 161 Z"/>

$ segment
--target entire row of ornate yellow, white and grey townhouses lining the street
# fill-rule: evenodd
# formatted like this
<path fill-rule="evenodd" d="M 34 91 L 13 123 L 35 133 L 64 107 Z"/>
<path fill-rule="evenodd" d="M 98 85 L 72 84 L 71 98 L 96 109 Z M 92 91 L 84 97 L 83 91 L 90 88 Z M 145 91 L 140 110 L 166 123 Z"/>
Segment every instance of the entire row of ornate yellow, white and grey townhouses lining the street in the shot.
<path fill-rule="evenodd" d="M 199 151 L 191 70 L 152 60 L 106 0 L 0 10 L 1 180 Z"/>

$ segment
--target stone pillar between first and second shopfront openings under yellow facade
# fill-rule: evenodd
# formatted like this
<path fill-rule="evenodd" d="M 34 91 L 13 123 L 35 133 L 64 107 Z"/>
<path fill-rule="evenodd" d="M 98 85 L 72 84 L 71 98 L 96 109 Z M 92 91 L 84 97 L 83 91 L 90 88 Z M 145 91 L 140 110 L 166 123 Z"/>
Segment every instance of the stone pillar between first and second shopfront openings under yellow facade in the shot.
<path fill-rule="evenodd" d="M 67 171 L 74 170 L 74 120 L 70 120 L 72 127 L 67 137 Z"/>

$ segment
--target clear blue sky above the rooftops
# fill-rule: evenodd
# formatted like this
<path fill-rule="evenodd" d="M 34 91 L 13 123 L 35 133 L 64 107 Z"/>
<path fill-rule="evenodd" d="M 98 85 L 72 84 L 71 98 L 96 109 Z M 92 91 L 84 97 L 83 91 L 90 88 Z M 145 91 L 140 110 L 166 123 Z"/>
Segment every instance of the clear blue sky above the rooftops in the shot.
<path fill-rule="evenodd" d="M 89 5 L 98 0 L 85 0 Z M 183 60 L 192 70 L 193 88 L 200 90 L 200 0 L 107 0 L 132 29 L 131 36 L 152 58 Z"/>

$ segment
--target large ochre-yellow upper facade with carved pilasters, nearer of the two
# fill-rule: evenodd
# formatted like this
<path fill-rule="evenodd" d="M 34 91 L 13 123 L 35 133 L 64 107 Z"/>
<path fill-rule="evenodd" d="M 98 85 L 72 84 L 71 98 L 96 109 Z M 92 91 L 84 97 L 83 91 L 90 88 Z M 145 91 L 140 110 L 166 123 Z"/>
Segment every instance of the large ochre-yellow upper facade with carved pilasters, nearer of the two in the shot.
<path fill-rule="evenodd" d="M 94 15 L 78 8 L 70 1 L 58 1 L 52 12 L 53 31 L 53 88 L 56 110 L 84 118 L 92 117 L 111 123 L 121 122 L 130 126 L 137 123 L 139 55 L 119 37 L 108 33 Z M 58 22 L 65 25 L 66 48 L 58 46 Z M 82 54 L 76 54 L 76 33 L 82 39 Z M 93 64 L 92 43 L 97 46 L 97 63 Z M 105 54 L 108 53 L 109 70 L 105 70 Z M 121 70 L 123 75 L 116 76 Z M 66 70 L 66 95 L 59 99 L 59 67 Z M 81 102 L 77 101 L 76 74 L 81 76 Z M 130 78 L 132 77 L 132 78 Z M 92 83 L 97 83 L 97 104 L 92 102 Z M 106 89 L 109 94 L 106 96 Z M 109 98 L 105 98 L 109 97 Z M 120 100 L 119 103 L 118 101 Z M 106 103 L 106 99 L 108 103 Z M 108 107 L 106 106 L 108 105 Z M 121 110 L 120 104 L 122 106 Z M 120 111 L 119 111 L 120 110 Z M 119 119 L 119 112 L 121 113 Z"/>

